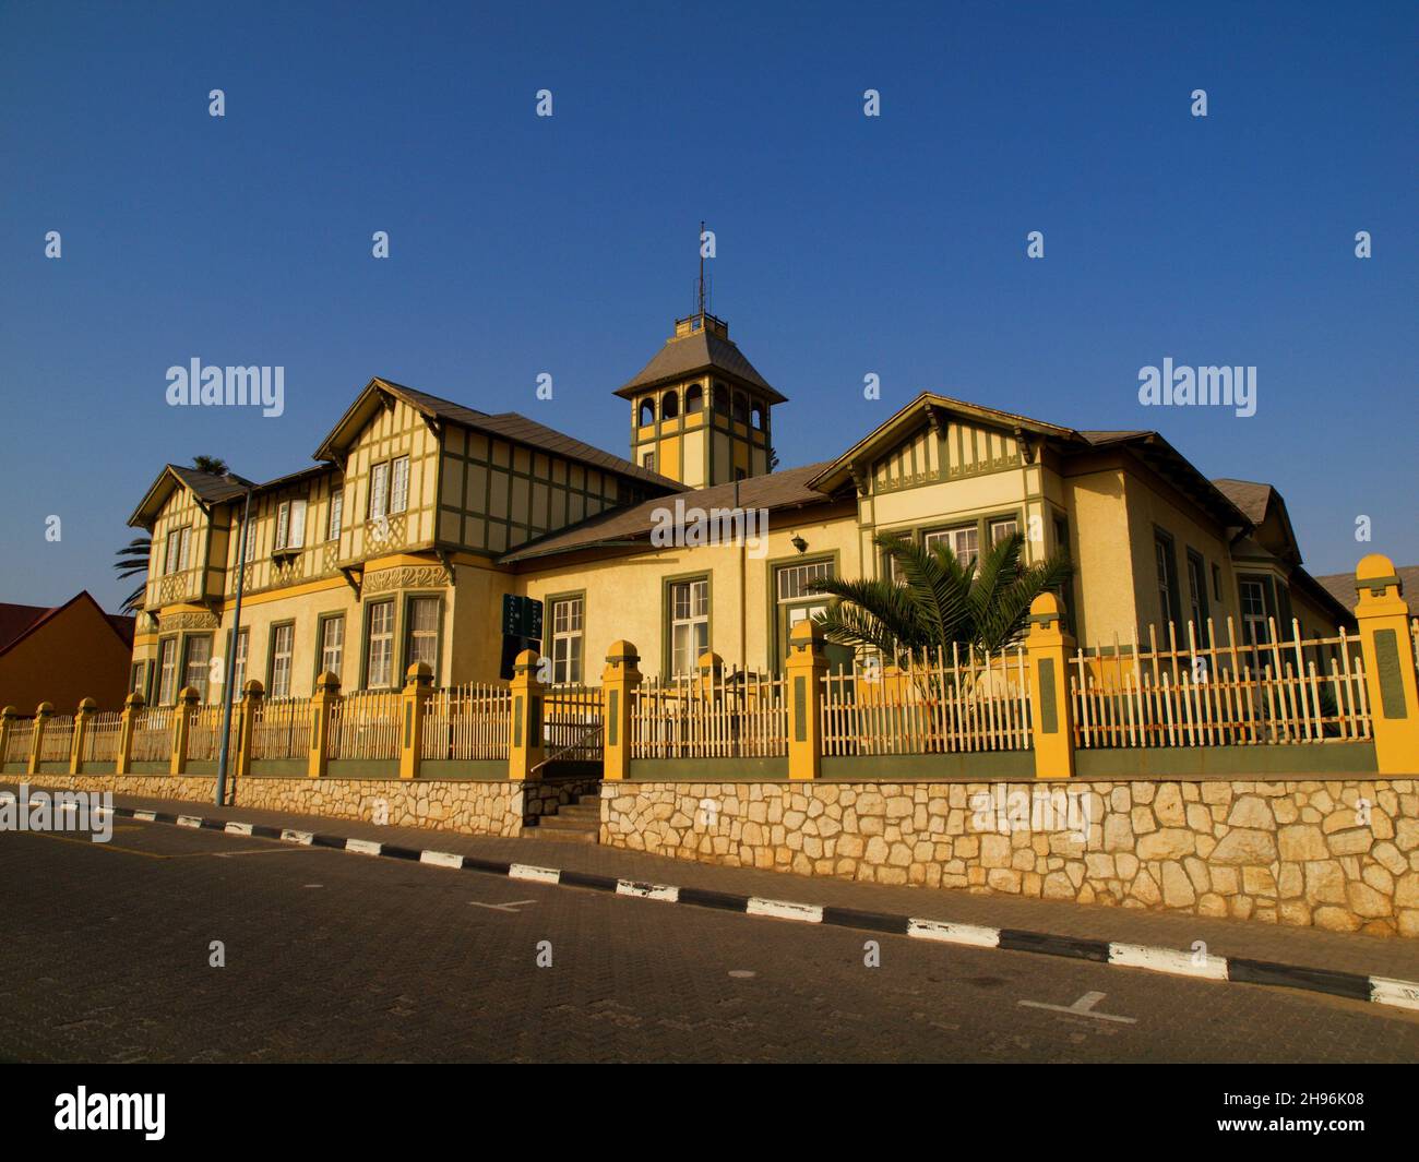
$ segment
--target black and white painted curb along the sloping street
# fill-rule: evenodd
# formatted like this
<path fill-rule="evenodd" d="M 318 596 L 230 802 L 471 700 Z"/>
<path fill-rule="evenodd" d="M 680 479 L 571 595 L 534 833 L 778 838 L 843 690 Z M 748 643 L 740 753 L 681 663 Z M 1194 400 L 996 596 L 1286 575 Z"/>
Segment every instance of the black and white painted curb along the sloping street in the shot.
<path fill-rule="evenodd" d="M 1144 972 L 1164 972 L 1174 976 L 1195 976 L 1205 980 L 1236 980 L 1246 985 L 1304 989 L 1349 1000 L 1368 1000 L 1375 1005 L 1392 1005 L 1401 1009 L 1419 1010 L 1419 982 L 1396 980 L 1388 976 L 1364 976 L 1355 972 L 1279 965 L 1270 961 L 1249 961 L 1240 956 L 1210 956 L 1200 951 L 1189 952 L 1176 948 L 1121 944 L 1118 941 L 1060 936 L 1049 932 L 1027 932 L 1015 928 L 985 928 L 975 924 L 918 919 L 888 912 L 863 912 L 830 904 L 795 904 L 788 900 L 732 895 L 705 888 L 644 884 L 634 880 L 617 880 L 612 875 L 595 875 L 586 871 L 565 871 L 555 867 L 484 860 L 478 856 L 460 856 L 453 851 L 400 847 L 392 843 L 376 843 L 375 840 L 325 836 L 318 831 L 298 831 L 291 827 L 271 827 L 264 823 L 236 823 L 224 819 L 203 819 L 201 816 L 169 814 L 166 812 L 146 812 L 132 807 L 115 807 L 114 813 L 122 819 L 135 819 L 146 823 L 172 823 L 179 827 L 199 827 L 233 836 L 282 840 L 284 843 L 298 843 L 307 847 L 329 847 L 353 851 L 359 856 L 410 860 L 431 864 L 433 867 L 481 871 L 536 884 L 590 888 L 592 891 L 633 895 L 641 900 L 660 900 L 667 904 L 718 908 L 719 911 L 744 912 L 751 917 L 796 919 L 803 924 L 829 924 L 837 928 L 857 928 L 867 932 L 884 932 L 918 941 L 934 941 L 937 944 L 999 948 L 1007 952 L 1034 952 L 1042 956 L 1066 956 L 1074 961 L 1095 961 L 1101 965 L 1118 965 L 1120 968 L 1142 969 Z"/>

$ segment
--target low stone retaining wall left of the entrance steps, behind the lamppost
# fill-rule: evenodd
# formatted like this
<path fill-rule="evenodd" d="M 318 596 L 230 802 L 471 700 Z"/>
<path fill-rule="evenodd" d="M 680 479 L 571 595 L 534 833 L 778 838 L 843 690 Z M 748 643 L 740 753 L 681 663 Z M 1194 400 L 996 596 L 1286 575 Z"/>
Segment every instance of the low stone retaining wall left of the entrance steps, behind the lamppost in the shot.
<path fill-rule="evenodd" d="M 10 775 L 7 782 L 27 776 Z M 210 776 L 35 775 L 34 786 L 211 803 Z M 521 836 L 524 823 L 595 792 L 599 780 L 482 782 L 474 779 L 237 779 L 230 806 L 427 827 L 473 836 Z M 380 804 L 383 803 L 383 807 Z"/>

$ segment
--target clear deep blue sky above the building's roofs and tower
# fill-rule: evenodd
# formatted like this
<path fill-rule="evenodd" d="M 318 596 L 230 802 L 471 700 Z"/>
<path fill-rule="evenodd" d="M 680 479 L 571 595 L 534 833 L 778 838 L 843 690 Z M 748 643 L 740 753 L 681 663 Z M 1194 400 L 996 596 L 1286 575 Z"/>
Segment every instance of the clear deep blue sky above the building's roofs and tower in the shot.
<path fill-rule="evenodd" d="M 938 389 L 1271 481 L 1313 572 L 1419 562 L 1416 11 L 0 3 L 0 600 L 115 607 L 163 463 L 305 467 L 372 375 L 624 454 L 700 218 L 785 465 Z M 1165 356 L 1257 414 L 1141 407 Z M 169 407 L 192 358 L 285 414 Z"/>

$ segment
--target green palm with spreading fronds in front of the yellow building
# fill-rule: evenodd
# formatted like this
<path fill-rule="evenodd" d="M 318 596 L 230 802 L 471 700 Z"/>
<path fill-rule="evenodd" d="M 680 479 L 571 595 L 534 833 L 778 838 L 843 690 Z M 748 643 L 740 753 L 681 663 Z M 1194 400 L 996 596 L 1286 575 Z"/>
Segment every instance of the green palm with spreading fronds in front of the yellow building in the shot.
<path fill-rule="evenodd" d="M 1017 532 L 966 565 L 944 543 L 927 548 L 890 532 L 877 533 L 876 542 L 895 562 L 902 582 L 826 577 L 810 587 L 837 597 L 817 614 L 829 641 L 884 658 L 962 646 L 996 653 L 1023 636 L 1030 602 L 1040 593 L 1059 593 L 1073 572 L 1064 556 L 1023 563 L 1025 538 Z"/>

